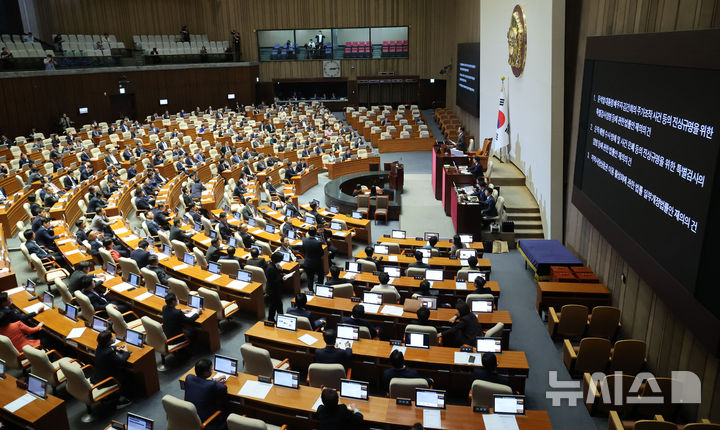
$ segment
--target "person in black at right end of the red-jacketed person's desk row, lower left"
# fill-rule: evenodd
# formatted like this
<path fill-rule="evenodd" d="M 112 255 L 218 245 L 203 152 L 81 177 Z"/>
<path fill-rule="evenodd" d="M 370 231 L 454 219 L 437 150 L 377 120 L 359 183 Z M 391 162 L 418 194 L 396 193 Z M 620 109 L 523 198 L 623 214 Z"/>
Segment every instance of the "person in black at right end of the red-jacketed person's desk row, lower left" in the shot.
<path fill-rule="evenodd" d="M 120 382 L 120 392 L 122 393 L 118 398 L 117 407 L 124 408 L 130 405 L 130 400 L 126 397 L 130 388 L 126 370 L 130 352 L 124 344 L 115 348 L 113 346 L 114 341 L 115 339 L 110 330 L 98 333 L 97 349 L 95 350 L 93 373 L 92 376 L 90 376 L 90 382 L 97 384 L 110 377 L 117 379 L 118 382 Z"/>

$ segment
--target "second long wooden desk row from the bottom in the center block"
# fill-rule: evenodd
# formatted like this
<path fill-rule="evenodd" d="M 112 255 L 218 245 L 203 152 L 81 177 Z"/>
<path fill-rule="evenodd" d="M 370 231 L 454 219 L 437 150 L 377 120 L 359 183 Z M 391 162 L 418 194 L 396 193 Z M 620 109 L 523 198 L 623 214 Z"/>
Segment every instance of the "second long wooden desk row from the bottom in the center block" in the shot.
<path fill-rule="evenodd" d="M 305 334 L 313 336 L 317 342 L 308 346 L 298 340 Z M 293 332 L 266 327 L 261 321 L 245 332 L 245 340 L 255 346 L 267 349 L 273 358 L 290 358 L 290 364 L 295 370 L 307 369 L 310 364 L 315 362 L 315 349 L 325 347 L 322 333 L 307 330 Z M 382 381 L 383 372 L 391 367 L 389 357 L 392 345 L 381 340 L 361 339 L 353 344 L 352 350 L 353 355 L 349 366 L 353 369 L 353 379 L 370 381 L 371 384 Z M 446 389 L 456 395 L 466 397 L 472 384 L 470 372 L 473 366 L 455 364 L 454 357 L 457 351 L 459 349 L 442 346 L 433 346 L 429 349 L 407 348 L 405 362 L 408 367 L 417 370 L 423 377 L 433 378 L 435 387 L 438 389 Z M 525 379 L 530 371 L 525 353 L 504 351 L 502 354 L 498 354 L 497 358 L 500 372 L 509 374 L 513 386 L 524 392 Z"/>

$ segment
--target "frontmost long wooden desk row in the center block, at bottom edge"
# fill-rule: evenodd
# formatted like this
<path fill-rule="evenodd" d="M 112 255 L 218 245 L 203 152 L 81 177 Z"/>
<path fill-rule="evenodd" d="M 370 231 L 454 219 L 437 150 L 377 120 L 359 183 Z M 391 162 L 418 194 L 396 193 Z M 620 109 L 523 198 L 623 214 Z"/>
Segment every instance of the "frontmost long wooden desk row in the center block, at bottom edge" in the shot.
<path fill-rule="evenodd" d="M 180 378 L 183 387 L 187 375 Z M 225 383 L 228 387 L 230 412 L 248 414 L 268 423 L 287 424 L 292 429 L 315 429 L 318 422 L 314 418 L 313 405 L 320 398 L 322 389 L 301 385 L 297 390 L 273 386 L 264 399 L 240 396 L 238 392 L 246 381 L 257 381 L 254 375 L 238 373 Z M 414 406 L 398 406 L 395 399 L 370 396 L 368 401 L 350 401 L 340 399 L 342 403 L 353 404 L 363 414 L 366 425 L 383 429 L 407 429 L 413 424 L 423 421 L 421 408 Z M 441 411 L 443 429 L 453 430 L 485 430 L 480 414 L 473 412 L 469 406 L 448 405 Z M 520 430 L 550 430 L 550 418 L 546 411 L 527 411 L 524 416 L 517 417 Z"/>

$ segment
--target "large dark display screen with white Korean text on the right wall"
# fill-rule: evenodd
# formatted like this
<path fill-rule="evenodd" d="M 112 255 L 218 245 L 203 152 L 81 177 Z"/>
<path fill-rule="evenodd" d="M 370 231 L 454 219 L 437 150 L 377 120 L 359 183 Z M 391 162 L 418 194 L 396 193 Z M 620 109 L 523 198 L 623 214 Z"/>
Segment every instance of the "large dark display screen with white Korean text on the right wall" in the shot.
<path fill-rule="evenodd" d="M 572 203 L 720 349 L 720 32 L 588 38 Z"/>

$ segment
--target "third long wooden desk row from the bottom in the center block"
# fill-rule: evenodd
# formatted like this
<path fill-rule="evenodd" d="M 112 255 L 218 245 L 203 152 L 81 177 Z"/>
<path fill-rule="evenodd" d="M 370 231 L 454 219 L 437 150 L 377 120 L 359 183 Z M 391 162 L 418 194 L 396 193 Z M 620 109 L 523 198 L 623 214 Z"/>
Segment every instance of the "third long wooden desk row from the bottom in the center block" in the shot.
<path fill-rule="evenodd" d="M 294 303 L 294 300 L 293 300 Z M 330 326 L 335 326 L 339 322 L 340 318 L 350 316 L 352 309 L 357 305 L 350 299 L 344 298 L 333 298 L 327 299 L 324 297 L 308 296 L 307 309 L 312 311 L 316 316 L 325 317 Z M 402 306 L 401 304 L 397 306 Z M 380 307 L 382 309 L 382 307 Z M 450 326 L 450 318 L 455 316 L 454 308 L 438 308 L 435 311 L 430 311 L 430 324 L 438 329 L 440 333 L 442 328 Z M 505 328 L 503 330 L 503 350 L 510 347 L 510 332 L 512 331 L 512 319 L 510 318 L 510 312 L 508 311 L 495 311 L 492 313 L 477 314 L 478 322 L 484 328 L 490 328 L 497 323 L 503 323 Z M 417 319 L 417 314 L 414 312 L 403 312 L 399 317 L 392 315 L 385 315 L 382 313 L 372 314 L 366 311 L 365 319 L 372 321 L 375 326 L 382 327 L 384 334 L 390 339 L 404 339 L 405 327 L 414 319 Z"/>

